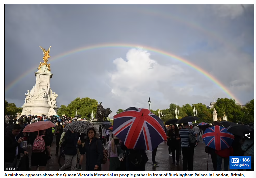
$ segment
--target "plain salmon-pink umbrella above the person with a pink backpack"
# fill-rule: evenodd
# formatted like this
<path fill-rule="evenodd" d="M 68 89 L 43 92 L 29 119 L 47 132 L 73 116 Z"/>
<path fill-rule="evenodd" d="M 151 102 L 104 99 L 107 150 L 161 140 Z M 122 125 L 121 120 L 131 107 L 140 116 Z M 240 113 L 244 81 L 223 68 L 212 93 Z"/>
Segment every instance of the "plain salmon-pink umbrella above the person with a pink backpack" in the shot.
<path fill-rule="evenodd" d="M 39 130 L 46 130 L 51 127 L 55 127 L 54 123 L 38 121 L 38 122 L 27 125 L 24 128 L 23 132 L 35 132 L 35 131 L 39 131 Z"/>

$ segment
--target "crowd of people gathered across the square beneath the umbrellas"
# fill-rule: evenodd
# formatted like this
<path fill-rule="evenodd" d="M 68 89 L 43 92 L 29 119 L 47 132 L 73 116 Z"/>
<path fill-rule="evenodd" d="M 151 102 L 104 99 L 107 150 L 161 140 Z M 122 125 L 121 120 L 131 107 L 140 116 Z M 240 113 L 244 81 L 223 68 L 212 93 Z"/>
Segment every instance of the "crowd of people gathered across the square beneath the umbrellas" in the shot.
<path fill-rule="evenodd" d="M 23 118 L 23 119 L 20 119 Z M 20 153 L 28 155 L 24 147 L 29 147 L 43 141 L 41 151 L 31 153 L 31 171 L 45 171 L 48 160 L 52 157 L 51 149 L 54 135 L 56 135 L 56 156 L 64 151 L 65 164 L 58 169 L 64 171 L 71 165 L 71 171 L 145 171 L 146 163 L 149 161 L 147 150 L 128 149 L 116 136 L 112 134 L 111 129 L 106 129 L 103 125 L 99 127 L 99 137 L 96 135 L 95 129 L 88 129 L 86 134 L 77 133 L 72 130 L 67 130 L 66 125 L 74 122 L 71 117 L 37 117 L 25 116 L 18 118 L 16 124 L 11 118 L 8 118 L 5 127 L 13 126 L 12 129 L 5 131 L 5 168 L 16 167 L 17 160 L 20 158 Z M 10 121 L 11 120 L 11 121 Z M 51 121 L 56 126 L 40 130 L 39 133 L 22 132 L 24 125 L 37 121 Z M 192 126 L 188 123 L 183 125 L 172 124 L 166 127 L 165 140 L 169 156 L 172 157 L 172 164 L 179 165 L 182 155 L 183 171 L 193 171 L 194 163 L 194 147 L 189 144 L 189 134 L 197 137 L 198 142 L 203 134 L 203 131 L 196 125 Z M 40 136 L 40 137 L 38 137 Z M 22 142 L 24 146 L 22 146 Z M 59 154 L 60 151 L 60 154 Z M 252 169 L 254 170 L 254 142 L 244 140 L 243 137 L 235 136 L 232 147 L 220 151 L 216 151 L 210 147 L 205 148 L 205 152 L 211 155 L 213 163 L 213 171 L 220 171 L 222 160 L 224 160 L 224 171 L 228 171 L 230 155 L 251 155 L 253 158 Z M 156 162 L 157 147 L 152 152 L 152 165 L 158 166 Z M 182 154 L 181 154 L 182 153 Z M 83 162 L 86 162 L 86 167 L 83 169 Z M 77 163 L 79 166 L 77 168 Z M 6 169 L 5 169 L 6 170 Z M 243 169 L 238 169 L 243 171 Z"/>

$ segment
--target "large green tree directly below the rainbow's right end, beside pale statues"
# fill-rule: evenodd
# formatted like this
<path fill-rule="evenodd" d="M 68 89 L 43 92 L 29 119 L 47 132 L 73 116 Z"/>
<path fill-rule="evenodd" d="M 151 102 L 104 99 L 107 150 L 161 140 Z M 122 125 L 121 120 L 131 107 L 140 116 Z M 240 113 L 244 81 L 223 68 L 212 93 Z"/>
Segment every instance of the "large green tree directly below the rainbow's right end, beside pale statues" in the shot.
<path fill-rule="evenodd" d="M 218 117 L 223 118 L 223 112 L 225 112 L 227 120 L 231 122 L 237 123 L 244 118 L 241 107 L 235 104 L 234 99 L 218 98 L 214 107 L 217 110 Z"/>

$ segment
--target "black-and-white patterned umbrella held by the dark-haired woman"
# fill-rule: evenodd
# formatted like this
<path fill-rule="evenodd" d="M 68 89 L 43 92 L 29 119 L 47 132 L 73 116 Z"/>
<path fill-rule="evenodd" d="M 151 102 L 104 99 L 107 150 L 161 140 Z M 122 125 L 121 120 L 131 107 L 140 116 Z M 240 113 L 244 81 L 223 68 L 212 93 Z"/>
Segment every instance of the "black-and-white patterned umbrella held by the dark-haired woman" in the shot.
<path fill-rule="evenodd" d="M 66 129 L 72 130 L 74 132 L 79 133 L 87 133 L 87 130 L 90 128 L 94 128 L 96 132 L 98 132 L 98 129 L 92 125 L 92 123 L 85 121 L 85 120 L 78 120 L 73 123 L 70 123 L 65 126 Z"/>

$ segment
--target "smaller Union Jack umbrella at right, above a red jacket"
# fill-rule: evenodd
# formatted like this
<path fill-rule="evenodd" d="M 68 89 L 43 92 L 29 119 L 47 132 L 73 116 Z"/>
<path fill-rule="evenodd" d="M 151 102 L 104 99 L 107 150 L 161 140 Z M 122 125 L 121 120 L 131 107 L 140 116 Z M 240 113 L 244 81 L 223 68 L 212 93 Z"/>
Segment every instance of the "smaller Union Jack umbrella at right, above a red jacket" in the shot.
<path fill-rule="evenodd" d="M 228 132 L 227 128 L 216 125 L 207 128 L 202 138 L 207 147 L 219 151 L 231 147 L 234 135 Z"/>

